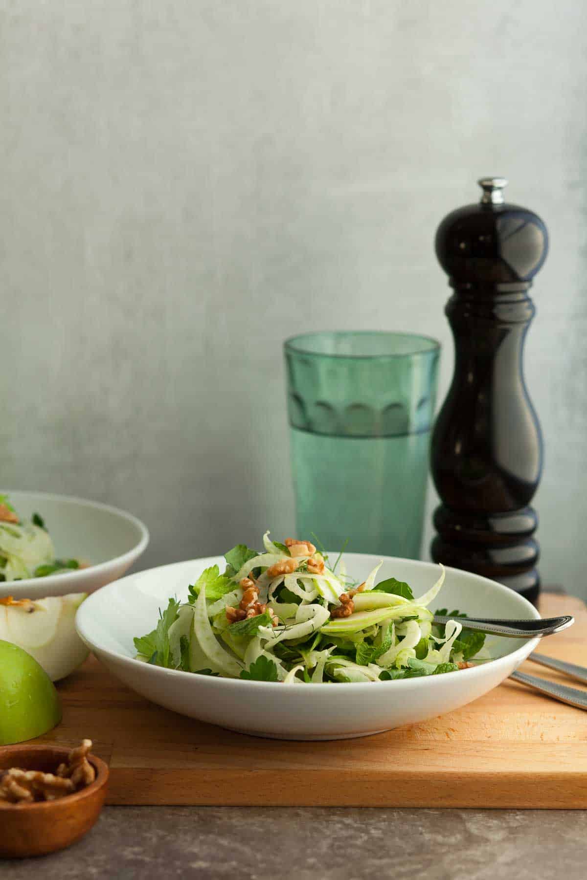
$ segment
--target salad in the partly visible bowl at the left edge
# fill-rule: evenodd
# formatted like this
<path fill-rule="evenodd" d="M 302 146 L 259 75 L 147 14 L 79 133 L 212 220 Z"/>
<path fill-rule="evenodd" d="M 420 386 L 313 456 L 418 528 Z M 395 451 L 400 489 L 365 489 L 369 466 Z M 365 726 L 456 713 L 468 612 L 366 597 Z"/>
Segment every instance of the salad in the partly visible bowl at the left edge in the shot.
<path fill-rule="evenodd" d="M 18 516 L 8 495 L 0 495 L 0 582 L 59 575 L 83 568 L 77 559 L 56 559 L 55 547 L 38 513 Z"/>

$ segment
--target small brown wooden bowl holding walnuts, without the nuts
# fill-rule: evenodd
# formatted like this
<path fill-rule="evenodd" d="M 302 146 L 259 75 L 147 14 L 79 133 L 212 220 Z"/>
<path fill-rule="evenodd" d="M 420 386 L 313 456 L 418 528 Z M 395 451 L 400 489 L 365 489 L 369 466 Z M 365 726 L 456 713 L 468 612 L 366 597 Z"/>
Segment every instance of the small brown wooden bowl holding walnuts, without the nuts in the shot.
<path fill-rule="evenodd" d="M 70 749 L 54 745 L 0 747 L 0 770 L 22 767 L 55 773 Z M 6 803 L 0 801 L 0 856 L 8 859 L 55 853 L 90 831 L 99 816 L 108 782 L 108 767 L 95 755 L 88 760 L 96 771 L 91 785 L 56 801 Z"/>

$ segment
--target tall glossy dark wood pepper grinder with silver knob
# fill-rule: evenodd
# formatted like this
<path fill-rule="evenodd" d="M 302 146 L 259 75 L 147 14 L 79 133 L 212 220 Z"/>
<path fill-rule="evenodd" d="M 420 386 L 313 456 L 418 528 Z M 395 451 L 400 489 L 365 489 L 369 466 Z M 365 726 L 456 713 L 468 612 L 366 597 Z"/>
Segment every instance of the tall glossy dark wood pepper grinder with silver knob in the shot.
<path fill-rule="evenodd" d="M 481 203 L 452 211 L 436 238 L 453 289 L 445 312 L 455 367 L 432 435 L 432 476 L 443 503 L 434 513 L 431 553 L 534 602 L 538 519 L 529 504 L 542 438 L 522 352 L 535 311 L 528 291 L 547 257 L 547 228 L 532 211 L 504 202 L 507 180 L 479 183 Z"/>

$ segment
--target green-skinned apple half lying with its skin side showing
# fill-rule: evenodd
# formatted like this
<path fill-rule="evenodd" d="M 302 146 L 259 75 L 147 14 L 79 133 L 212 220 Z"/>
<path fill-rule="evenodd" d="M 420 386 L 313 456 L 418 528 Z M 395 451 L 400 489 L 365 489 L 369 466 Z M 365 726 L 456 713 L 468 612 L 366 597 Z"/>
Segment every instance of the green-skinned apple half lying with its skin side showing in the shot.
<path fill-rule="evenodd" d="M 22 743 L 61 721 L 55 685 L 18 645 L 0 641 L 0 745 Z"/>

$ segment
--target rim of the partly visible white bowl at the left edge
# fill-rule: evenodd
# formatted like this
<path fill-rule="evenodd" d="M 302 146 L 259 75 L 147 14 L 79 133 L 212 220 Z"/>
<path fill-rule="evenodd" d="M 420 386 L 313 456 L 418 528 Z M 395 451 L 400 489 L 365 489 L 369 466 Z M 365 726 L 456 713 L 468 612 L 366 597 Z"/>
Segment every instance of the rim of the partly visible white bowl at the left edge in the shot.
<path fill-rule="evenodd" d="M 88 572 L 90 571 L 92 572 L 92 575 L 99 576 L 100 574 L 105 573 L 107 569 L 114 564 L 124 565 L 128 562 L 130 565 L 133 561 L 138 559 L 141 554 L 143 554 L 150 541 L 149 529 L 143 523 L 143 520 L 139 519 L 132 513 L 128 513 L 127 510 L 121 510 L 121 508 L 114 507 L 112 504 L 92 501 L 90 498 L 79 498 L 77 495 L 59 495 L 55 492 L 33 492 L 28 489 L 0 488 L 0 494 L 29 495 L 34 496 L 35 498 L 46 498 L 50 501 L 68 502 L 71 504 L 77 504 L 80 507 L 104 510 L 107 513 L 125 519 L 128 523 L 136 527 L 136 530 L 140 534 L 140 538 L 130 550 L 126 551 L 126 553 L 120 554 L 119 556 L 113 556 L 112 559 L 106 560 L 105 562 L 99 562 L 97 565 L 90 565 L 87 568 L 78 568 L 75 571 L 71 571 L 70 574 L 67 575 L 67 583 L 71 584 L 72 587 L 71 590 L 67 590 L 68 594 L 83 592 L 83 590 L 76 590 L 76 586 L 80 585 L 87 579 Z M 48 577 L 43 578 L 26 577 L 22 581 L 5 581 L 0 583 L 0 590 L 2 593 L 7 593 L 7 595 L 10 596 L 23 597 L 27 590 L 30 591 L 34 588 L 35 593 L 38 595 L 41 581 L 43 583 L 43 590 L 47 588 L 44 595 L 54 595 L 53 590 L 55 590 L 55 588 L 59 588 L 60 593 L 62 593 L 63 575 L 49 575 Z"/>

